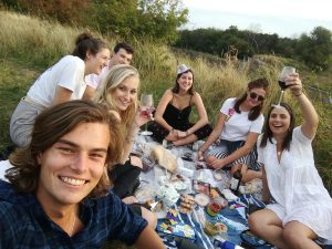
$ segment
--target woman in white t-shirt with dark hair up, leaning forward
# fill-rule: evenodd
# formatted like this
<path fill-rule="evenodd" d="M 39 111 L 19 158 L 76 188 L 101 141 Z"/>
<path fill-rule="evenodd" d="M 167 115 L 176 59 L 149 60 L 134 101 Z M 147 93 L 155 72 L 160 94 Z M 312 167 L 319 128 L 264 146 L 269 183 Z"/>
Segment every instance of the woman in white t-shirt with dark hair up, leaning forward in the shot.
<path fill-rule="evenodd" d="M 82 33 L 76 38 L 72 55 L 62 58 L 43 72 L 21 100 L 10 121 L 12 142 L 23 147 L 30 143 L 35 116 L 45 107 L 82 97 L 84 75 L 101 73 L 110 58 L 105 41 Z"/>

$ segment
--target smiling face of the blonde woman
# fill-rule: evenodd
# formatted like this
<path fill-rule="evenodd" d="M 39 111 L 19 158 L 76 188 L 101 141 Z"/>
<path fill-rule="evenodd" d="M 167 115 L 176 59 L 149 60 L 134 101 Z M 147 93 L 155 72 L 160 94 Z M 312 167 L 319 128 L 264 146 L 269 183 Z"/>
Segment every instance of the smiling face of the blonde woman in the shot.
<path fill-rule="evenodd" d="M 127 110 L 137 101 L 138 84 L 137 76 L 128 76 L 114 90 L 113 97 L 121 111 Z"/>

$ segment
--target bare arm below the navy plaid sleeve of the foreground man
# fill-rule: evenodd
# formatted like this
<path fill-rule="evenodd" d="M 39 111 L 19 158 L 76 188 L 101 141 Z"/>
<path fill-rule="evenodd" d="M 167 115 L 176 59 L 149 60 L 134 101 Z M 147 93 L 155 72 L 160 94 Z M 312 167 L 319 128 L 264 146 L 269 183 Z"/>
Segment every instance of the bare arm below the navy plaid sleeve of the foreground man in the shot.
<path fill-rule="evenodd" d="M 135 242 L 137 249 L 165 249 L 162 239 L 149 226 L 146 226 Z"/>

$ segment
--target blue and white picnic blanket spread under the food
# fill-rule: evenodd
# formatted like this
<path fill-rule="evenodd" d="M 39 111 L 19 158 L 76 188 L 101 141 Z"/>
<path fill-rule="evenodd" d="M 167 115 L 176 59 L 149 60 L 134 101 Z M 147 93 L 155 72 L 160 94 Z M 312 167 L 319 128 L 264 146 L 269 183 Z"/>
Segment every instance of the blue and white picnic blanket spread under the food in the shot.
<path fill-rule="evenodd" d="M 198 142 L 199 143 L 199 142 Z M 167 169 L 157 167 L 156 162 L 151 160 L 148 157 L 149 152 L 154 145 L 159 145 L 154 142 L 149 136 L 138 136 L 137 142 L 134 145 L 134 152 L 138 151 L 143 152 L 142 159 L 145 165 L 148 165 L 148 170 L 141 174 L 141 189 L 138 189 L 137 198 L 142 201 L 146 200 L 152 196 L 157 195 L 158 187 L 160 186 L 160 181 L 165 179 L 167 176 Z M 181 194 L 194 194 L 195 189 L 193 189 L 191 180 L 198 179 L 201 181 L 207 181 L 212 187 L 218 187 L 219 189 L 228 188 L 227 180 L 229 180 L 229 173 L 222 174 L 222 179 L 216 181 L 212 176 L 211 169 L 199 169 L 195 165 L 195 159 L 189 159 L 188 155 L 193 155 L 191 158 L 195 158 L 195 149 L 194 146 L 180 146 L 180 147 L 167 147 L 177 158 L 177 174 L 180 174 L 185 177 L 185 184 L 187 188 L 181 191 Z M 197 146 L 196 146 L 197 147 Z M 137 153 L 138 154 L 138 153 Z M 187 160 L 188 159 L 188 160 Z M 152 170 L 153 169 L 153 170 Z M 166 172 L 165 172 L 166 170 Z M 169 174 L 169 172 L 168 172 Z M 252 187 L 252 186 L 251 186 Z M 249 188 L 251 188 L 249 187 Z M 251 188 L 252 189 L 252 188 Z M 141 191 L 139 191 L 141 190 Z M 256 189 L 257 190 L 257 189 Z M 261 189 L 260 189 L 261 190 Z M 206 212 L 206 207 L 196 206 L 195 210 L 191 214 L 181 214 L 178 211 L 179 203 L 174 205 L 174 209 L 177 210 L 177 220 L 175 225 L 168 228 L 165 225 L 166 214 L 159 216 L 158 226 L 163 225 L 164 229 L 157 228 L 157 231 L 163 239 L 165 246 L 168 249 L 180 248 L 178 247 L 178 239 L 185 239 L 190 242 L 190 246 L 187 248 L 196 248 L 200 249 L 214 249 L 212 245 L 214 239 L 218 238 L 208 236 L 204 231 L 204 224 L 201 218 L 215 222 L 222 222 L 227 226 L 228 230 L 226 234 L 222 234 L 221 237 L 235 245 L 243 245 L 243 231 L 248 230 L 248 210 L 249 206 L 256 207 L 264 207 L 264 204 L 260 201 L 260 191 L 255 191 L 253 194 L 245 194 L 240 195 L 237 199 L 229 201 L 228 206 L 224 208 L 216 217 L 211 217 Z M 232 207 L 232 208 L 230 208 Z M 172 227 L 173 226 L 173 227 Z M 166 229 L 169 229 L 166 231 Z M 175 229 L 176 232 L 173 232 L 172 229 Z M 165 232 L 166 231 L 166 232 Z M 253 242 L 259 240 L 257 237 Z M 248 241 L 247 241 L 248 242 Z M 249 238 L 250 242 L 250 238 Z M 252 242 L 252 241 L 251 241 Z M 325 241 L 323 241 L 324 243 Z M 251 243 L 255 245 L 255 243 Z M 259 245 L 259 246 L 258 246 Z M 323 246 L 321 246 L 323 247 Z M 274 248 L 273 246 L 264 242 L 263 240 L 259 241 L 256 246 L 243 246 L 243 248 L 257 248 L 257 249 L 270 249 Z M 331 246 L 325 246 L 323 248 L 331 249 Z"/>

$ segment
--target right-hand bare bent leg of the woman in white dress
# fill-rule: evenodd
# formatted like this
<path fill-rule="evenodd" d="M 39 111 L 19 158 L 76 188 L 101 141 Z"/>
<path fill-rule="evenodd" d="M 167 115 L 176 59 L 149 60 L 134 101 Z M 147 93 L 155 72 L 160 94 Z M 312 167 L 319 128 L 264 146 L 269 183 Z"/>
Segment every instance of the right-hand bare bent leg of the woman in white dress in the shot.
<path fill-rule="evenodd" d="M 318 236 L 300 221 L 290 221 L 284 226 L 283 239 L 290 248 L 294 249 L 319 249 L 313 239 Z"/>

